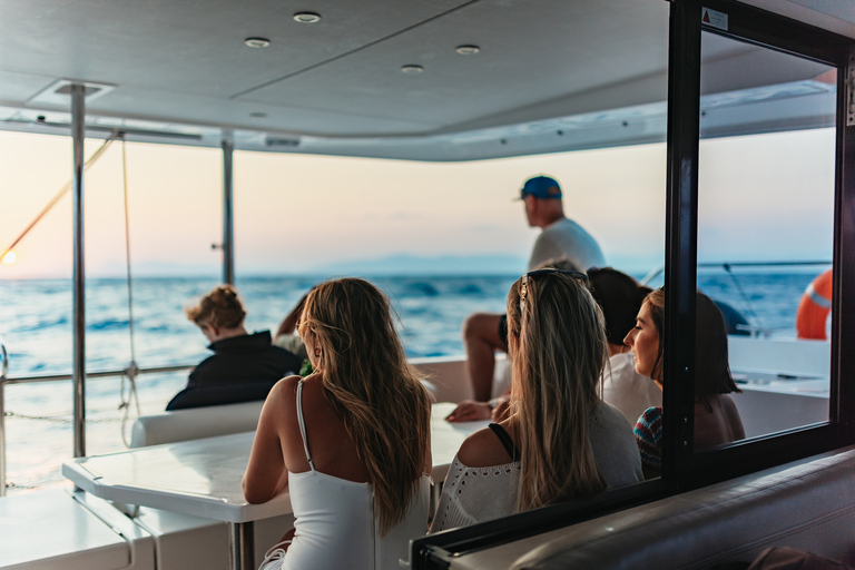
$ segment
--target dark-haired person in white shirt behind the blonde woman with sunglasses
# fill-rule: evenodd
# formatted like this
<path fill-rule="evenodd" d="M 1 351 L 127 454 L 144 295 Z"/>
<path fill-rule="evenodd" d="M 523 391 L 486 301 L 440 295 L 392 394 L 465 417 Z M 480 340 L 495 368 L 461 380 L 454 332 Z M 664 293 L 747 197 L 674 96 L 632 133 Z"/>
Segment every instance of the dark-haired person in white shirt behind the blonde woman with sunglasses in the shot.
<path fill-rule="evenodd" d="M 662 405 L 662 391 L 647 376 L 636 372 L 636 363 L 623 337 L 636 325 L 641 302 L 649 287 L 610 267 L 589 269 L 591 294 L 606 317 L 609 365 L 603 371 L 602 400 L 620 410 L 635 425 L 645 410 Z"/>

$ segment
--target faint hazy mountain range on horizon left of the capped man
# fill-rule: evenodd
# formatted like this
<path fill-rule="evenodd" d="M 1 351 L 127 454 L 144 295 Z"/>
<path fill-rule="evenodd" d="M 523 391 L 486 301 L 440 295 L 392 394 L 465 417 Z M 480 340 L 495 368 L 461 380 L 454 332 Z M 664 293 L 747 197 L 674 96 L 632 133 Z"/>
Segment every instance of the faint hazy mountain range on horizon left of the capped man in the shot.
<path fill-rule="evenodd" d="M 324 275 L 503 275 L 525 271 L 525 259 L 512 255 L 409 255 L 325 263 L 305 273 Z"/>

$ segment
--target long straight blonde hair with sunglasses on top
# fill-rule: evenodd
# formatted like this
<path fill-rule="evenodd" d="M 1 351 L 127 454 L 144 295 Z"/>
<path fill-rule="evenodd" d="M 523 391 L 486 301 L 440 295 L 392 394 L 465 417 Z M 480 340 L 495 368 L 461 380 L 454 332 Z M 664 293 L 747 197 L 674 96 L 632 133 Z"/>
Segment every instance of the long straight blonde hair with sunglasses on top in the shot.
<path fill-rule="evenodd" d="M 557 272 L 530 275 L 521 308 L 522 282 L 508 294 L 518 511 L 606 489 L 588 439 L 608 360 L 602 312 L 583 282 Z"/>

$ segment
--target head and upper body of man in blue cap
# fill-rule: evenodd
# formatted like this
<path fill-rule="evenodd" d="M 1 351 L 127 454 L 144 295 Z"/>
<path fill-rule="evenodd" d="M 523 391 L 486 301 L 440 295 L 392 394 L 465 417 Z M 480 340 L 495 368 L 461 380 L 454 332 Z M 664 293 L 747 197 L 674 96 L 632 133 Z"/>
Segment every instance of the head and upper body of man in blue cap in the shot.
<path fill-rule="evenodd" d="M 543 230 L 531 250 L 530 272 L 550 259 L 562 258 L 581 272 L 606 266 L 597 240 L 582 226 L 564 216 L 561 187 L 554 178 L 529 178 L 520 190 L 520 199 L 525 204 L 529 225 Z"/>

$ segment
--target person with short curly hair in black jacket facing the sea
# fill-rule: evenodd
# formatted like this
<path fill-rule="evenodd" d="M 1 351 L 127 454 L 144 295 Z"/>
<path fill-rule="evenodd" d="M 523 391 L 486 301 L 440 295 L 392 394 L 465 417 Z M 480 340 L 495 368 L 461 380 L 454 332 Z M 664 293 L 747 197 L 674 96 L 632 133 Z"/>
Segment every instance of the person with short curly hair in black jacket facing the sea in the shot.
<path fill-rule="evenodd" d="M 291 352 L 271 344 L 269 331 L 247 334 L 246 311 L 230 285 L 220 285 L 185 309 L 214 351 L 196 366 L 167 410 L 264 400 L 281 377 L 299 370 Z"/>

